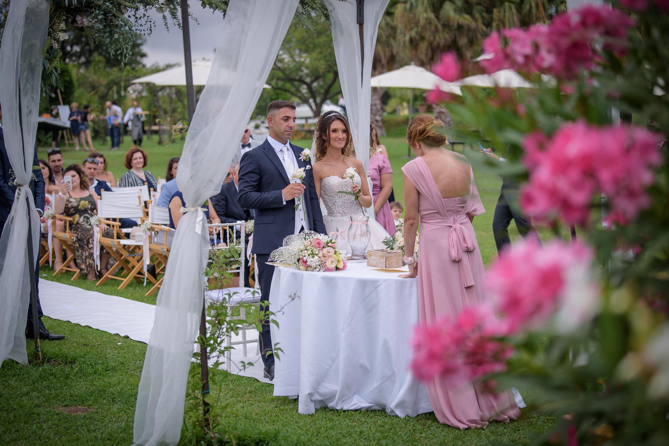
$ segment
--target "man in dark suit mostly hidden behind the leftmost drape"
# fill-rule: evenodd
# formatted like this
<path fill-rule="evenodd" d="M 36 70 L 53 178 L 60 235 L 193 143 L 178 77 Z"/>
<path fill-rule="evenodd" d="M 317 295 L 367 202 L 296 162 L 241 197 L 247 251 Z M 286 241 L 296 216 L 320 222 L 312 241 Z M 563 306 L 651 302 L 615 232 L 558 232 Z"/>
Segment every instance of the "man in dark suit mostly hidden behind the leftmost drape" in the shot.
<path fill-rule="evenodd" d="M 1 120 L 2 108 L 0 107 L 0 121 Z M 35 200 L 35 210 L 37 210 L 37 214 L 41 217 L 44 209 L 44 180 L 41 171 L 35 168 L 37 163 L 37 150 L 35 150 L 35 156 L 33 158 L 33 178 L 35 178 L 35 180 L 31 180 L 29 186 L 33 194 L 33 200 Z M 5 147 L 5 134 L 0 126 L 0 236 L 5 228 L 5 222 L 7 222 L 9 212 L 11 212 L 11 206 L 14 204 L 14 196 L 16 194 L 16 186 L 9 184 L 9 179 L 11 178 L 10 170 L 11 163 L 9 162 L 9 154 L 7 154 L 7 148 Z M 47 341 L 60 341 L 61 339 L 65 339 L 62 334 L 51 334 L 41 320 L 43 313 L 41 304 L 39 303 L 39 256 L 35 258 L 35 264 L 31 265 L 31 268 L 34 268 L 33 271 L 35 274 L 39 339 L 45 339 Z M 27 339 L 33 339 L 35 337 L 33 322 L 33 302 L 29 302 L 27 322 L 25 324 L 25 337 Z"/>

